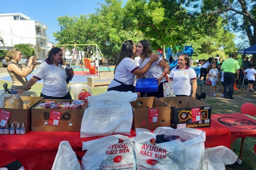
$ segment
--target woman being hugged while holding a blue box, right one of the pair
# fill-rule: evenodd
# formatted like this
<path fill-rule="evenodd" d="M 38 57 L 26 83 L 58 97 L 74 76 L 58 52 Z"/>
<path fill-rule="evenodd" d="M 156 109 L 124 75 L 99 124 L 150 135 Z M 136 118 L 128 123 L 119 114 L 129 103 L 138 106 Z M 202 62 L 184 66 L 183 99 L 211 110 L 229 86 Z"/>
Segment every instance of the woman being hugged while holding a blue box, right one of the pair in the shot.
<path fill-rule="evenodd" d="M 138 43 L 136 48 L 136 55 L 140 55 L 140 68 L 144 67 L 149 61 L 152 55 L 158 55 L 151 51 L 151 44 L 148 40 L 142 40 Z M 147 92 L 147 97 L 164 97 L 163 84 L 166 82 L 165 72 L 167 73 L 170 70 L 170 66 L 164 61 L 162 57 L 159 57 L 159 60 L 156 60 L 150 67 L 149 71 L 144 74 L 146 78 L 157 78 L 158 80 L 158 92 Z M 142 78 L 142 76 L 138 76 Z M 140 93 L 138 93 L 140 96 Z"/>

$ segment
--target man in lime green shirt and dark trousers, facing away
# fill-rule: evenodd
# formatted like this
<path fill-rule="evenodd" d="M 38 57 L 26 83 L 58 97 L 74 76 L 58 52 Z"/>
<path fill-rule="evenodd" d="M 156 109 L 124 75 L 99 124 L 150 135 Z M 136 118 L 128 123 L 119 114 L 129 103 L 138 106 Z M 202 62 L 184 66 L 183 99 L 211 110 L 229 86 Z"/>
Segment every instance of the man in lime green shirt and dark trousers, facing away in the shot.
<path fill-rule="evenodd" d="M 234 84 L 238 79 L 239 69 L 238 61 L 234 60 L 234 54 L 229 54 L 229 59 L 225 60 L 221 66 L 221 70 L 224 72 L 224 98 L 234 99 Z M 236 77 L 235 74 L 237 74 Z"/>

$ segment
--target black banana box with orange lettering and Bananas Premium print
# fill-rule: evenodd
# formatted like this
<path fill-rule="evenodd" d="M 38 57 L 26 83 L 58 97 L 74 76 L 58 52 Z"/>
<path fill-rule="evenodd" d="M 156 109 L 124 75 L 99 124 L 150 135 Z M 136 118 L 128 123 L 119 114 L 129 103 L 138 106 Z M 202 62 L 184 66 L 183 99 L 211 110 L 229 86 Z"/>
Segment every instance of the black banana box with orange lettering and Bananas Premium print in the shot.
<path fill-rule="evenodd" d="M 171 106 L 171 127 L 174 129 L 210 127 L 211 105 L 188 96 L 160 97 Z"/>

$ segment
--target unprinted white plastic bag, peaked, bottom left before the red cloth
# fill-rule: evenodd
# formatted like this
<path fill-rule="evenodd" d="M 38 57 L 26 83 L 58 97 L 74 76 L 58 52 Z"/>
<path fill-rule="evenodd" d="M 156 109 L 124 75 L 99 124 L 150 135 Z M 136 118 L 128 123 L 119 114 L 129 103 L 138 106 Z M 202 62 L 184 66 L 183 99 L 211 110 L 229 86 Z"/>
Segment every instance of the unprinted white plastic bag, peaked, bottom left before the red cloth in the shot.
<path fill-rule="evenodd" d="M 62 141 L 59 145 L 52 170 L 80 170 L 76 153 L 72 150 L 68 141 Z"/>

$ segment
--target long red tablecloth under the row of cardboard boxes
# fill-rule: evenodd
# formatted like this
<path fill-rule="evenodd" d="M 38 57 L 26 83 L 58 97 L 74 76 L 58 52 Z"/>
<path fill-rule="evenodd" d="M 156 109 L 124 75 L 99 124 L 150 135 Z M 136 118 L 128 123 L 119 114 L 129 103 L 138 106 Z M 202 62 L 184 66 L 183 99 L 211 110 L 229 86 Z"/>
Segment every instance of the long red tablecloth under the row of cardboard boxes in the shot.
<path fill-rule="evenodd" d="M 200 128 L 206 132 L 205 147 L 226 146 L 230 148 L 231 134 L 228 128 L 211 122 L 210 128 Z M 153 132 L 153 131 L 152 131 Z M 136 136 L 131 130 L 129 137 Z M 82 142 L 101 137 L 80 138 L 80 132 L 32 132 L 25 135 L 0 136 L 0 167 L 13 159 L 21 162 L 25 170 L 51 170 L 61 141 L 69 141 L 79 157 L 83 157 Z M 13 158 L 13 159 L 12 159 Z"/>

